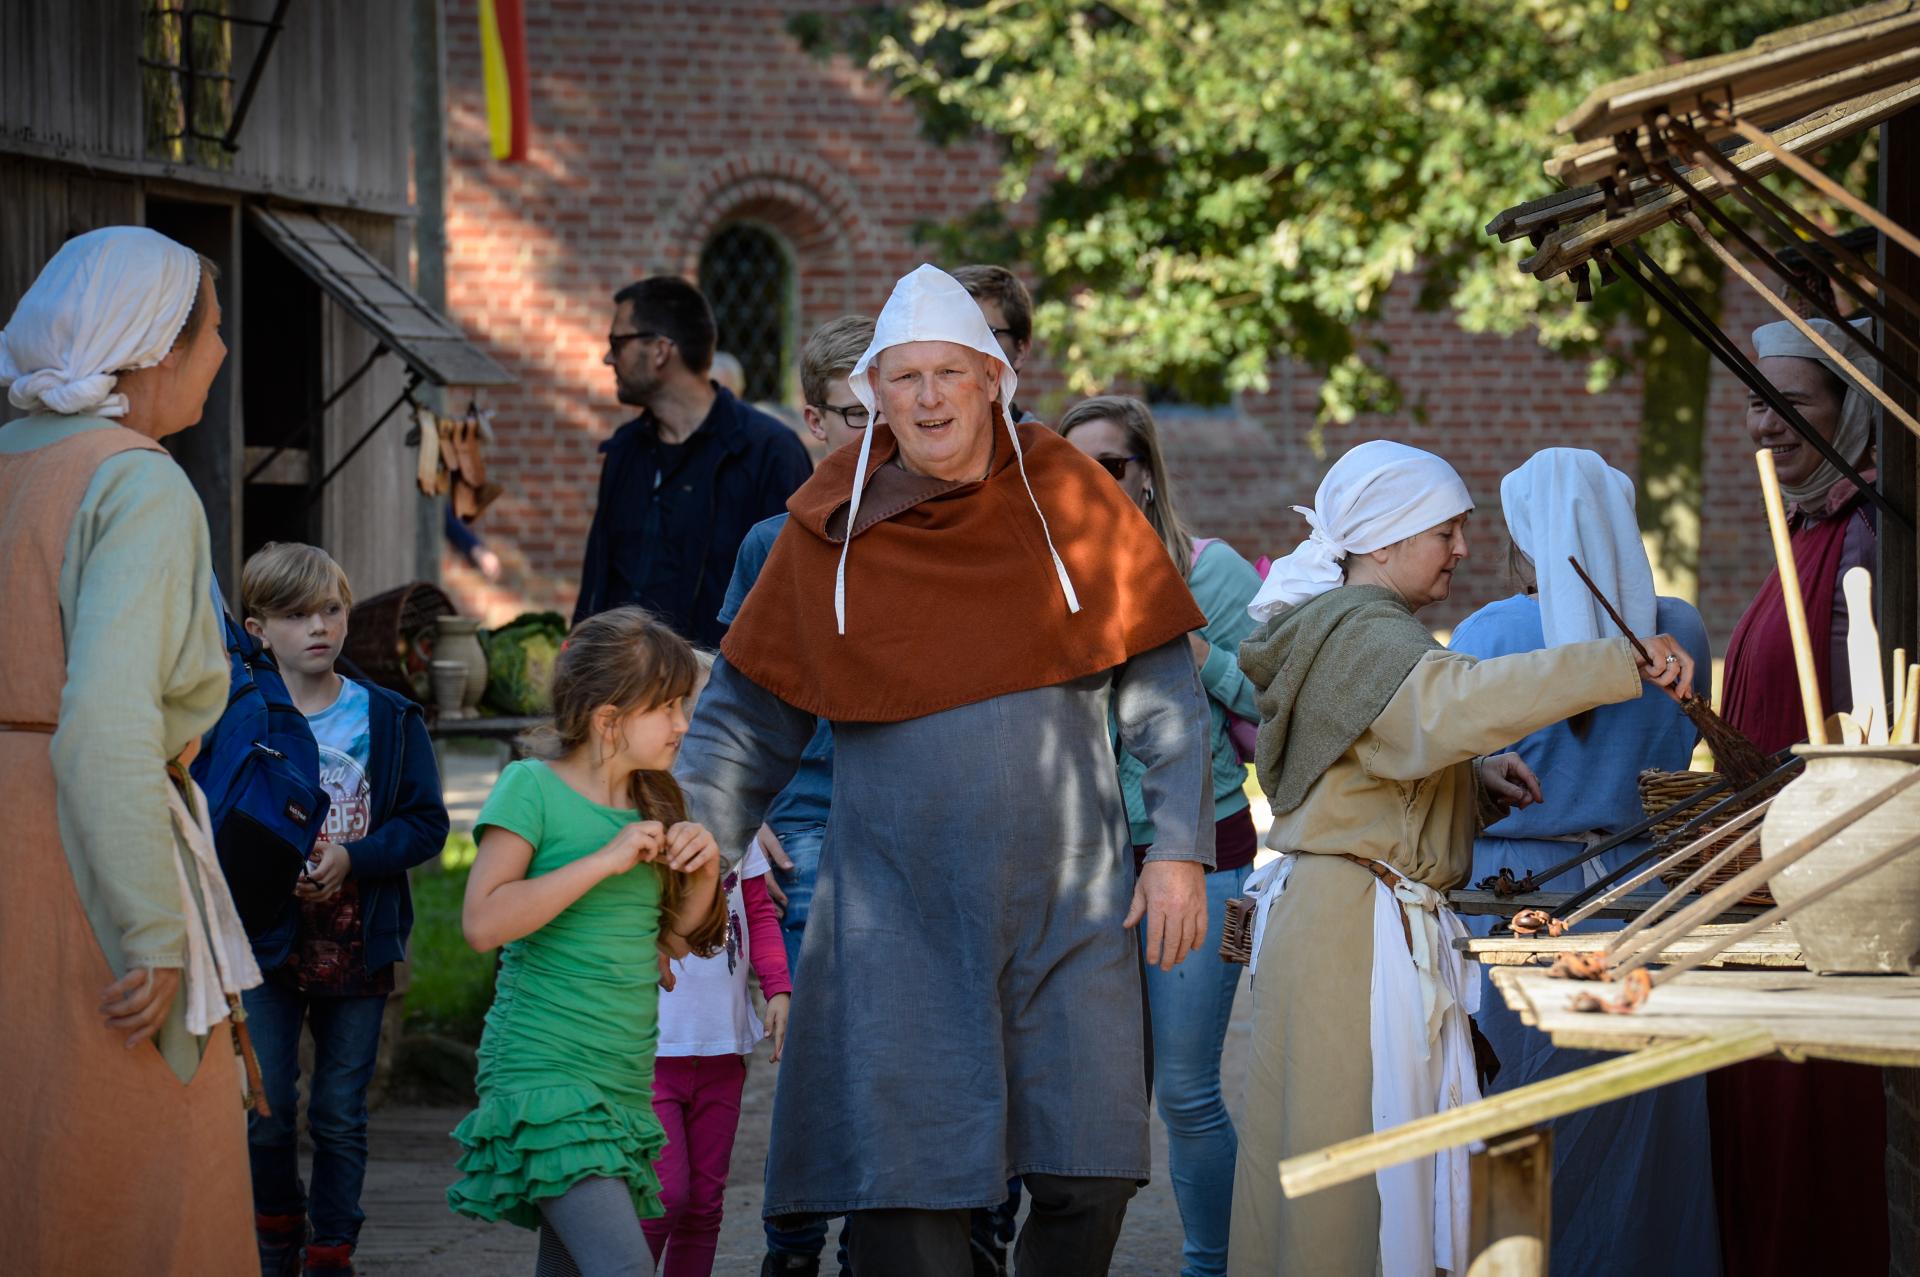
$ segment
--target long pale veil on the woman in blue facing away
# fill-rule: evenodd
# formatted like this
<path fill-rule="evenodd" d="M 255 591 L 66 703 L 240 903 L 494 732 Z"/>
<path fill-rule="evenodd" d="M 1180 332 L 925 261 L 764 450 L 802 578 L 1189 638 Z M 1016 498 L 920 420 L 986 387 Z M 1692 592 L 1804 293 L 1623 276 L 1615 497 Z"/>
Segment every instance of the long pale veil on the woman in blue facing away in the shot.
<path fill-rule="evenodd" d="M 1500 480 L 1500 507 L 1534 561 L 1548 647 L 1619 638 L 1567 555 L 1594 578 L 1640 638 L 1655 632 L 1653 568 L 1634 518 L 1634 480 L 1584 447 L 1548 447 Z"/>

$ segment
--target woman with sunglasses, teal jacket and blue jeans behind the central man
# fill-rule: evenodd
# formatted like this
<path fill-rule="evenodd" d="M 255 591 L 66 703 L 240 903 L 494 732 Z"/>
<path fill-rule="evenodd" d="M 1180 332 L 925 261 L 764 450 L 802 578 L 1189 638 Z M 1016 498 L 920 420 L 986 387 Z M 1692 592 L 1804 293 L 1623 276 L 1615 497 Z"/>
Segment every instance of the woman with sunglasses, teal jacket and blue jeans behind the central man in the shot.
<path fill-rule="evenodd" d="M 1160 1118 L 1167 1123 L 1173 1196 L 1187 1233 L 1181 1277 L 1217 1277 L 1227 1271 L 1233 1166 L 1238 1152 L 1233 1120 L 1221 1098 L 1219 1056 L 1240 983 L 1240 968 L 1219 958 L 1219 928 L 1227 901 L 1240 895 L 1260 843 L 1246 805 L 1246 762 L 1233 741 L 1236 720 L 1252 724 L 1260 718 L 1254 686 L 1238 664 L 1240 639 L 1256 628 L 1246 605 L 1260 590 L 1260 574 L 1225 542 L 1194 538 L 1181 522 L 1160 451 L 1160 430 L 1144 403 L 1123 396 L 1087 399 L 1060 419 L 1058 430 L 1098 461 L 1140 507 L 1206 613 L 1206 628 L 1187 638 L 1213 714 L 1217 868 L 1208 874 L 1208 939 L 1171 972 L 1148 966 L 1146 999 L 1152 1008 L 1154 1093 Z M 1133 757 L 1119 755 L 1135 860 L 1154 843 L 1154 824 L 1140 799 L 1142 774 L 1144 768 Z"/>

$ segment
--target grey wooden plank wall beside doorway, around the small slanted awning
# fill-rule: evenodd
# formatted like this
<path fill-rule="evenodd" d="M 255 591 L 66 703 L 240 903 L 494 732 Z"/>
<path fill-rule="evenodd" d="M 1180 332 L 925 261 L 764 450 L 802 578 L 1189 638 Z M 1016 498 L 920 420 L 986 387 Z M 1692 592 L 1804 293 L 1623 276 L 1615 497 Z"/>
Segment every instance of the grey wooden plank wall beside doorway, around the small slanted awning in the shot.
<path fill-rule="evenodd" d="M 369 253 L 401 278 L 407 277 L 407 236 L 401 234 L 405 223 L 372 215 L 342 215 L 340 221 Z M 374 338 L 332 300 L 324 305 L 324 384 L 332 388 L 367 359 Z M 323 472 L 353 447 L 405 384 L 405 365 L 396 355 L 382 355 L 372 371 L 326 411 L 319 457 Z M 411 426 L 401 405 L 367 447 L 334 476 L 321 497 L 326 553 L 348 570 L 353 593 L 363 599 L 422 576 L 415 538 L 422 497 L 413 482 L 417 469 L 413 449 L 403 444 Z M 424 576 L 430 578 L 432 572 Z"/>

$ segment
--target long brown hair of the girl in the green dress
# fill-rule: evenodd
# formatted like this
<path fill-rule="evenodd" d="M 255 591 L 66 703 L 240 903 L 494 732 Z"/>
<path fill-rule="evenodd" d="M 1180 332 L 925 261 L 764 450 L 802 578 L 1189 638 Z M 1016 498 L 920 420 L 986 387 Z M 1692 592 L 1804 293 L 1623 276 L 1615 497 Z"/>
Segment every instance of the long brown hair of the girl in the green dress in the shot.
<path fill-rule="evenodd" d="M 582 620 L 553 666 L 553 722 L 541 751 L 559 757 L 591 745 L 593 714 L 603 705 L 624 716 L 693 695 L 699 670 L 693 647 L 641 607 Z M 687 797 L 672 772 L 634 772 L 628 797 L 643 820 L 674 828 L 687 818 Z M 660 876 L 660 912 L 674 918 L 685 904 L 687 878 L 659 862 L 653 868 Z M 726 943 L 726 908 L 708 910 L 707 922 L 685 939 L 693 952 L 718 952 Z"/>

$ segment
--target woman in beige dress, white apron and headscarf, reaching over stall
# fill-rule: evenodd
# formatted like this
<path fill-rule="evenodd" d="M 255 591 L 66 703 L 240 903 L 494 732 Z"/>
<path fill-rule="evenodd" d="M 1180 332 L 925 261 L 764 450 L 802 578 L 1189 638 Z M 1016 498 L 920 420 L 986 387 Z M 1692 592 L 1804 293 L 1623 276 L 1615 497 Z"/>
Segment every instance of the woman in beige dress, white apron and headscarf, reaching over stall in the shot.
<path fill-rule="evenodd" d="M 1624 638 L 1475 661 L 1415 613 L 1467 557 L 1467 486 L 1440 457 L 1375 440 L 1302 509 L 1240 645 L 1260 689 L 1260 783 L 1273 803 L 1248 881 L 1254 1027 L 1233 1193 L 1233 1277 L 1467 1271 L 1467 1154 L 1452 1150 L 1300 1200 L 1275 1168 L 1478 1096 L 1467 1016 L 1478 985 L 1442 893 L 1473 835 L 1540 787 L 1507 743 L 1571 714 L 1692 684 L 1693 659 Z"/>

